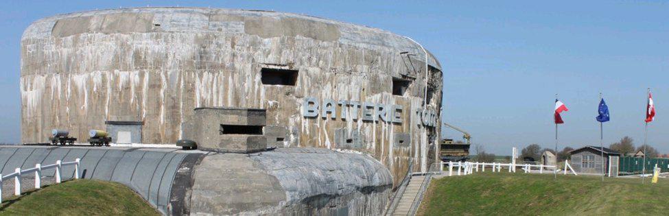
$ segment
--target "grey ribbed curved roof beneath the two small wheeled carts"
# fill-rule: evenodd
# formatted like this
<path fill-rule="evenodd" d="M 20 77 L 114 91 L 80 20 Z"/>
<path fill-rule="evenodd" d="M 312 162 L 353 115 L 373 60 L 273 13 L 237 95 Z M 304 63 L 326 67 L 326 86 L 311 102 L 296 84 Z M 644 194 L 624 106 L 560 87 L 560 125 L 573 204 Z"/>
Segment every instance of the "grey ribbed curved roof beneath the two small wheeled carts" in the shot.
<path fill-rule="evenodd" d="M 81 158 L 82 178 L 125 184 L 161 213 L 169 213 L 168 206 L 179 203 L 171 203 L 170 198 L 174 197 L 171 195 L 175 192 L 174 188 L 180 187 L 180 184 L 174 183 L 174 179 L 179 171 L 183 172 L 179 170 L 183 168 L 182 162 L 200 156 L 203 154 L 187 154 L 178 149 L 2 146 L 0 170 L 1 173 L 12 173 L 16 167 L 30 169 L 37 163 L 50 165 L 56 163 L 56 160 L 69 162 Z M 55 172 L 55 169 L 48 169 L 42 175 L 54 176 Z M 34 173 L 24 175 L 34 176 Z M 63 167 L 64 180 L 73 176 L 73 166 Z"/>

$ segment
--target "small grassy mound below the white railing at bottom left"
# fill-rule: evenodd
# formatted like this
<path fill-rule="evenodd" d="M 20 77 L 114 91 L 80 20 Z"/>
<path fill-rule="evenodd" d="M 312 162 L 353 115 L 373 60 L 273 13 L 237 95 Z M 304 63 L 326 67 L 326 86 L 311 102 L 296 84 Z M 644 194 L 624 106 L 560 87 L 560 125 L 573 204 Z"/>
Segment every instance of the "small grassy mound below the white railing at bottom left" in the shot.
<path fill-rule="evenodd" d="M 0 215 L 159 215 L 123 184 L 71 180 L 3 200 Z"/>

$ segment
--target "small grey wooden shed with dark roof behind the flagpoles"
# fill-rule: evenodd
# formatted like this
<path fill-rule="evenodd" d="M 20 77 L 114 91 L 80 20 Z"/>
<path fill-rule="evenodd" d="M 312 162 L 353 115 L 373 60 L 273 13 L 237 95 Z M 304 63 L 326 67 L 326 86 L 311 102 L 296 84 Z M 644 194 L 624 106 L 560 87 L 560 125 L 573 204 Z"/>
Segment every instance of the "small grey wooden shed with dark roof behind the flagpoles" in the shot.
<path fill-rule="evenodd" d="M 604 157 L 602 158 L 602 152 Z M 577 173 L 602 174 L 618 176 L 618 160 L 620 153 L 607 147 L 586 146 L 574 149 L 570 152 L 572 160 L 570 164 Z M 602 170 L 602 163 L 604 169 Z M 609 174 L 609 170 L 611 173 Z"/>

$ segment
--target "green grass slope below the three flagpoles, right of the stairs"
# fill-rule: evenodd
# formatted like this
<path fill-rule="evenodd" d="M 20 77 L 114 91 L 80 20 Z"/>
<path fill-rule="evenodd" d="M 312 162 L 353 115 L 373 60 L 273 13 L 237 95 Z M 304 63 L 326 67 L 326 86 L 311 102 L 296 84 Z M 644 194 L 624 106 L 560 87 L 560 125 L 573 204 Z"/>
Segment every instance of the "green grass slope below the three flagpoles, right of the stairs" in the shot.
<path fill-rule="evenodd" d="M 668 215 L 669 180 L 473 173 L 432 180 L 419 215 Z"/>

